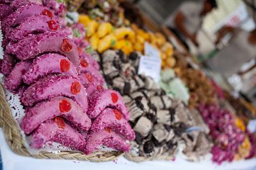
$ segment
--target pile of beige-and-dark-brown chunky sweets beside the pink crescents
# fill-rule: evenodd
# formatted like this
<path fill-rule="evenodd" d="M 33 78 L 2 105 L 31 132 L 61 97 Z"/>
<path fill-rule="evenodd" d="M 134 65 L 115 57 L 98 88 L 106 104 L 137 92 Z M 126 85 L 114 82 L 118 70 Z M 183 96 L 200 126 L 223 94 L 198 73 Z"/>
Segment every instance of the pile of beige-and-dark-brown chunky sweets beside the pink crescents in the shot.
<path fill-rule="evenodd" d="M 140 54 L 126 56 L 121 50 L 102 53 L 100 65 L 108 86 L 123 95 L 136 132 L 130 154 L 154 157 L 163 152 L 175 156 L 184 147 L 188 159 L 195 160 L 211 150 L 209 129 L 200 113 L 189 113 L 184 103 L 168 97 L 148 76 L 137 74 Z M 200 126 L 202 131 L 186 132 Z"/>

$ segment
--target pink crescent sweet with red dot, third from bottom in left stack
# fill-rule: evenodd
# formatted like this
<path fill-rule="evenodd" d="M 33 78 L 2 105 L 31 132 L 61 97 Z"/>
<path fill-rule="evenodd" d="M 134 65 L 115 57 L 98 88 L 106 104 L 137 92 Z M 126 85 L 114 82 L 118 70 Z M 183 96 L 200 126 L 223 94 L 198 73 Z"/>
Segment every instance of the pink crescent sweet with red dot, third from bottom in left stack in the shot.
<path fill-rule="evenodd" d="M 49 75 L 36 81 L 24 91 L 20 101 L 25 106 L 32 106 L 38 101 L 56 96 L 70 97 L 87 111 L 87 93 L 83 85 L 76 78 L 63 75 Z"/>

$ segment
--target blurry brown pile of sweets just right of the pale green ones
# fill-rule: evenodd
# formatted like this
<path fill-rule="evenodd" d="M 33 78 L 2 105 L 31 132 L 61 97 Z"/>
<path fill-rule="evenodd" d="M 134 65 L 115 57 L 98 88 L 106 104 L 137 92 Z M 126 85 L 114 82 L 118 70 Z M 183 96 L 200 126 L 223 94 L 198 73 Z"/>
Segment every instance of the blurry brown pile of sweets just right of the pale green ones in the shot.
<path fill-rule="evenodd" d="M 211 80 L 199 69 L 191 67 L 182 53 L 175 52 L 173 56 L 177 60 L 173 70 L 189 89 L 189 107 L 196 108 L 200 103 L 216 103 L 216 91 Z"/>

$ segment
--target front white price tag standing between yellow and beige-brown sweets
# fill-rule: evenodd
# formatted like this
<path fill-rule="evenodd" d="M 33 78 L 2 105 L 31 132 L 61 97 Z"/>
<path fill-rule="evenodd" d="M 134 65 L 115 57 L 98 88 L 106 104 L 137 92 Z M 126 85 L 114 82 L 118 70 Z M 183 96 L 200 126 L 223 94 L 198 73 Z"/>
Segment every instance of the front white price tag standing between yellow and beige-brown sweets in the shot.
<path fill-rule="evenodd" d="M 161 59 L 154 57 L 141 56 L 138 74 L 150 76 L 154 81 L 158 82 L 160 79 Z"/>

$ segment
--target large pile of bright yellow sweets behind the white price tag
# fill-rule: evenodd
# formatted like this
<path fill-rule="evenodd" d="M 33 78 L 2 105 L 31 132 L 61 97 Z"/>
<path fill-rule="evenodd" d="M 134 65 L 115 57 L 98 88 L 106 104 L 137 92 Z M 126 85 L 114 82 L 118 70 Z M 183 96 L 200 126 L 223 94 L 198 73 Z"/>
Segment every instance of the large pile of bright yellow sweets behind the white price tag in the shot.
<path fill-rule="evenodd" d="M 86 27 L 86 39 L 93 50 L 102 53 L 108 49 L 122 50 L 125 54 L 133 51 L 144 52 L 144 44 L 148 42 L 160 52 L 162 67 L 172 67 L 175 59 L 172 57 L 173 46 L 167 42 L 163 34 L 146 32 L 132 24 L 131 27 L 115 27 L 110 22 L 98 22 L 88 15 L 79 15 L 79 22 Z"/>

